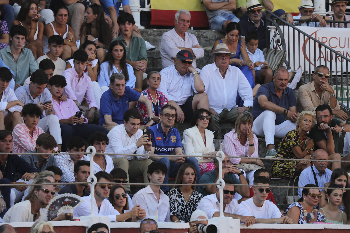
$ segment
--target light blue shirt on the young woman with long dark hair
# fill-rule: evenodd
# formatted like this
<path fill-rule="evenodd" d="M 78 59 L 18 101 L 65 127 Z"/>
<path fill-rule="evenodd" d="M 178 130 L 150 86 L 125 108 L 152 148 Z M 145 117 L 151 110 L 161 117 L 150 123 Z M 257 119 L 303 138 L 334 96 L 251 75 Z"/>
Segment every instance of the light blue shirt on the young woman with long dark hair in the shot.
<path fill-rule="evenodd" d="M 132 66 L 127 63 L 126 63 L 126 69 L 129 75 L 129 80 L 126 81 L 126 85 L 131 89 L 133 89 L 135 87 L 135 81 L 136 81 L 134 70 Z M 98 78 L 97 78 L 98 85 L 100 87 L 103 87 L 103 86 L 109 87 L 110 77 L 114 73 L 119 73 L 115 65 L 113 65 L 113 72 L 110 72 L 108 61 L 105 61 L 104 63 L 102 63 L 100 66 L 100 74 L 98 75 Z M 120 71 L 120 73 L 123 73 L 123 71 Z"/>

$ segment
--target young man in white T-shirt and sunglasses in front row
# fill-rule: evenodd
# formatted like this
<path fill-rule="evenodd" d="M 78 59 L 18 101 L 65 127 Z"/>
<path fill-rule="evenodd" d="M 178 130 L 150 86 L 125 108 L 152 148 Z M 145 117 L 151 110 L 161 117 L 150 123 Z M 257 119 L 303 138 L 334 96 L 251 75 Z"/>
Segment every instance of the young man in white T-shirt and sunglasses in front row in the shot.
<path fill-rule="evenodd" d="M 278 207 L 272 202 L 266 200 L 271 189 L 269 187 L 260 187 L 259 185 L 270 185 L 270 181 L 265 176 L 258 176 L 254 179 L 254 187 L 252 187 L 254 196 L 241 202 L 239 204 L 240 207 L 248 212 L 249 215 L 255 217 L 255 223 L 292 224 L 293 219 L 281 215 Z"/>

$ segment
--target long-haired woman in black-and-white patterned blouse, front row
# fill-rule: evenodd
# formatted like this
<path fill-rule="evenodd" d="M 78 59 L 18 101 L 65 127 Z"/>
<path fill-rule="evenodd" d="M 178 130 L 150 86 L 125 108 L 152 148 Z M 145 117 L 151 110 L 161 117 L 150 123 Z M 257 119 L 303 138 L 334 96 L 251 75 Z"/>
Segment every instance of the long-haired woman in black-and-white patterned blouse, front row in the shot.
<path fill-rule="evenodd" d="M 193 184 L 197 180 L 194 167 L 184 163 L 176 175 L 176 184 Z M 170 220 L 173 223 L 188 223 L 193 211 L 197 209 L 202 199 L 202 194 L 195 190 L 195 185 L 175 185 L 175 188 L 168 192 L 170 204 Z"/>

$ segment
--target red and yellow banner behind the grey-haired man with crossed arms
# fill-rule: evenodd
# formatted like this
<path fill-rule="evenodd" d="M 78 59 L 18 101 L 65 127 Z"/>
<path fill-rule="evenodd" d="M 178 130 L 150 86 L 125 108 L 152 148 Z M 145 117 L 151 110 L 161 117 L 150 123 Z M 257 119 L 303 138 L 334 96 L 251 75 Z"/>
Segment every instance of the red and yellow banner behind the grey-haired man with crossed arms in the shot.
<path fill-rule="evenodd" d="M 174 26 L 177 10 L 186 9 L 191 13 L 190 27 L 209 27 L 207 13 L 201 0 L 151 0 L 153 25 Z"/>

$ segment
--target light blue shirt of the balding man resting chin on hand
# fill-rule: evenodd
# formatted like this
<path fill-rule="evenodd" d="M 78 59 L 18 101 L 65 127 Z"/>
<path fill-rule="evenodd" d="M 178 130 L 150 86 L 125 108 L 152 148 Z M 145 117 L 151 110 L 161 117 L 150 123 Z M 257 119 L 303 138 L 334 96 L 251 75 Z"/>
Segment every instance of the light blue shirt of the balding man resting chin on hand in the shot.
<path fill-rule="evenodd" d="M 332 175 L 332 171 L 328 168 L 324 171 L 324 173 L 321 175 L 320 172 L 316 169 L 315 165 L 312 165 L 312 169 L 314 169 L 314 172 L 316 174 L 316 180 L 318 183 L 318 187 L 324 187 L 324 183 L 330 182 L 330 176 Z M 314 179 L 314 174 L 311 170 L 311 167 L 305 168 L 302 170 L 300 176 L 299 176 L 299 187 L 305 187 L 307 184 L 316 184 Z M 298 189 L 298 196 L 302 197 L 301 192 L 303 189 Z M 320 189 L 320 192 L 322 189 Z"/>

